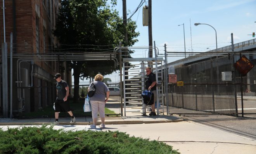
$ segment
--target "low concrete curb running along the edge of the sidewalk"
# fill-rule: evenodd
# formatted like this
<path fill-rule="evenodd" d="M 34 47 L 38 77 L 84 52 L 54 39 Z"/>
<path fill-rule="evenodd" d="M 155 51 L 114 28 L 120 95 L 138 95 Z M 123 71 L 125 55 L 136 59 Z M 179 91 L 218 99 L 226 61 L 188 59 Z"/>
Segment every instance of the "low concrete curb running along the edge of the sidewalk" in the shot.
<path fill-rule="evenodd" d="M 180 122 L 183 119 L 176 120 L 159 120 L 159 121 L 143 121 L 143 120 L 133 120 L 133 121 L 105 121 L 106 125 L 129 125 L 129 124 L 142 124 L 142 123 L 169 123 L 169 122 Z M 21 122 L 5 122 L 0 123 L 0 126 L 10 126 L 10 125 L 50 125 L 52 122 L 31 122 L 31 123 L 21 123 Z M 76 122 L 75 125 L 91 125 L 93 122 Z M 97 122 L 97 125 L 100 122 Z M 59 122 L 59 125 L 71 125 L 69 122 Z"/>

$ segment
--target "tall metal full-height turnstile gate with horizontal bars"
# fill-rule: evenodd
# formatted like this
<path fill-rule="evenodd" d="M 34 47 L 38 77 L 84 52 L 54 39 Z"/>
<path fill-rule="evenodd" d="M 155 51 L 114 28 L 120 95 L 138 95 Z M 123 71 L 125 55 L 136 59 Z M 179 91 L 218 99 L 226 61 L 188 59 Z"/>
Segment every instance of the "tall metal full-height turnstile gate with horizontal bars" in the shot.
<path fill-rule="evenodd" d="M 126 112 L 138 112 L 142 113 L 142 115 L 146 115 L 147 109 L 150 106 L 146 106 L 143 103 L 142 99 L 142 91 L 145 90 L 145 68 L 146 65 L 160 65 L 159 67 L 152 68 L 152 72 L 156 74 L 156 81 L 157 81 L 157 115 L 159 113 L 164 113 L 163 111 L 163 65 L 162 65 L 163 58 L 157 58 L 157 62 L 155 58 L 123 58 L 123 97 L 124 97 L 124 114 L 126 116 Z M 125 66 L 125 62 L 139 62 L 137 64 L 132 64 L 130 66 Z M 128 70 L 124 68 L 128 67 Z M 128 73 L 125 73 L 128 72 Z M 161 94 L 159 94 L 161 92 Z M 126 103 L 129 106 L 126 106 Z M 159 107 L 160 106 L 160 107 Z M 130 108 L 132 110 L 126 110 Z M 162 109 L 162 111 L 159 111 Z M 148 110 L 149 111 L 149 110 Z M 149 111 L 150 112 L 150 111 Z"/>

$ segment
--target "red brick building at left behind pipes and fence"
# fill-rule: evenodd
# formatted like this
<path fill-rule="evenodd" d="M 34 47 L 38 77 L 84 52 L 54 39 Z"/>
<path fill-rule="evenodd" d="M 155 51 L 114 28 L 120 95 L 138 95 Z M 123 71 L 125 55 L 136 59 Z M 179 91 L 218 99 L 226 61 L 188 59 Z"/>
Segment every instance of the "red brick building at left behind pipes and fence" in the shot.
<path fill-rule="evenodd" d="M 53 52 L 57 38 L 53 36 L 52 31 L 55 28 L 61 0 L 5 0 L 4 2 L 8 53 L 10 53 L 10 33 L 13 33 L 14 54 L 29 53 L 40 56 Z M 0 0 L 0 6 L 3 7 L 3 0 Z M 4 42 L 3 9 L 0 10 L 0 29 L 2 44 Z M 59 71 L 58 62 L 24 61 L 19 64 L 19 70 L 16 66 L 18 59 L 13 59 L 13 115 L 21 111 L 37 111 L 52 104 L 56 93 L 53 77 Z M 9 63 L 8 58 L 8 65 Z M 0 65 L 2 70 L 2 60 Z M 19 76 L 22 81 L 21 91 L 17 90 L 15 82 L 19 80 Z M 2 103 L 0 106 L 2 112 Z"/>

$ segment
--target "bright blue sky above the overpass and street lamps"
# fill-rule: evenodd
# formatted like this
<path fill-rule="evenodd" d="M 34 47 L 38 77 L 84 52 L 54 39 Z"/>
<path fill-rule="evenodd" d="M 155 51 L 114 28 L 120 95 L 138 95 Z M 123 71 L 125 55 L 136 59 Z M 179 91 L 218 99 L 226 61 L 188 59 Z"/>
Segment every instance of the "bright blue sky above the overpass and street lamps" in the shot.
<path fill-rule="evenodd" d="M 116 9 L 122 16 L 122 0 L 118 0 Z M 140 0 L 126 0 L 127 12 L 133 12 Z M 148 4 L 148 1 L 146 1 Z M 144 3 L 145 5 L 145 3 Z M 143 5 L 143 6 L 144 6 Z M 167 51 L 184 51 L 183 25 L 185 27 L 186 51 L 209 51 L 216 48 L 215 31 L 208 25 L 194 26 L 204 23 L 213 26 L 217 32 L 218 48 L 230 45 L 234 34 L 234 43 L 254 39 L 256 32 L 256 0 L 152 0 L 152 37 L 160 53 Z M 130 17 L 129 13 L 127 17 Z M 137 22 L 140 32 L 138 42 L 134 46 L 148 46 L 148 27 L 142 26 L 142 7 L 131 18 Z M 190 36 L 190 21 L 191 34 Z M 191 49 L 192 38 L 192 49 Z M 154 44 L 154 43 L 153 43 Z M 147 57 L 148 51 L 138 50 L 133 57 Z"/>

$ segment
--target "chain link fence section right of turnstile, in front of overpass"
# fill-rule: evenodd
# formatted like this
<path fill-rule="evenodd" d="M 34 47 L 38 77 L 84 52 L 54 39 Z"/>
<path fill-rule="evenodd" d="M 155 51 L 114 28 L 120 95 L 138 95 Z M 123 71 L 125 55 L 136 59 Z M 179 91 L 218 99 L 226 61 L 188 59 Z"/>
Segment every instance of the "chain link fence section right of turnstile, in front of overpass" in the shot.
<path fill-rule="evenodd" d="M 242 53 L 256 64 L 253 54 Z M 204 53 L 184 57 L 168 56 L 168 66 L 175 68 L 177 81 L 184 86 L 168 84 L 171 114 L 231 114 L 255 116 L 256 114 L 256 68 L 242 76 L 235 70 L 234 60 L 229 53 Z M 180 59 L 180 60 L 178 60 Z M 234 72 L 235 80 L 225 80 L 222 72 Z"/>

